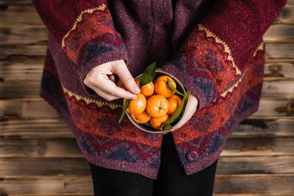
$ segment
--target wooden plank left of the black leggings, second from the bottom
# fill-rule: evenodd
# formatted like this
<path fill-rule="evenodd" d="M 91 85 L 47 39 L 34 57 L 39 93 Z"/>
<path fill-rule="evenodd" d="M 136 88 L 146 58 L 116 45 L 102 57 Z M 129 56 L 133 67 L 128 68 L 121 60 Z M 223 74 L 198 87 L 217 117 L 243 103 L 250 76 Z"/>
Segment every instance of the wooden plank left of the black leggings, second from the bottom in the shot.
<path fill-rule="evenodd" d="M 53 179 L 91 175 L 89 164 L 84 158 L 0 158 L 0 165 L 1 178 Z"/>

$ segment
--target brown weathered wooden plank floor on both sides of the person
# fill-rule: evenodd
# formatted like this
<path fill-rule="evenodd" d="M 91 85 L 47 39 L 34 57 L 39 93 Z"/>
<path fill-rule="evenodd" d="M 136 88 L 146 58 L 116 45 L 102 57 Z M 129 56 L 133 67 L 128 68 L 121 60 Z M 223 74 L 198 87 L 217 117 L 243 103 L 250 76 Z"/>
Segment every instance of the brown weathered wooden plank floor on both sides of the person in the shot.
<path fill-rule="evenodd" d="M 93 195 L 87 162 L 39 98 L 46 28 L 30 0 L 0 0 L 0 195 Z M 294 0 L 264 36 L 259 111 L 221 153 L 215 196 L 294 196 Z"/>

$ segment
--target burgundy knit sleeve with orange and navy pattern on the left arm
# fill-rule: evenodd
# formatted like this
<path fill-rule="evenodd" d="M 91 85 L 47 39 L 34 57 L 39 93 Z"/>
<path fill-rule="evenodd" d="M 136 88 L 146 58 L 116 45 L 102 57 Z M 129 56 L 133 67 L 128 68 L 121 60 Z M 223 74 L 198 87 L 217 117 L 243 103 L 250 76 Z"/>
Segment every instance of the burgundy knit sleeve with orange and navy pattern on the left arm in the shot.
<path fill-rule="evenodd" d="M 121 35 L 115 30 L 106 0 L 32 0 L 49 33 L 75 63 L 79 80 L 96 66 L 127 62 Z"/>

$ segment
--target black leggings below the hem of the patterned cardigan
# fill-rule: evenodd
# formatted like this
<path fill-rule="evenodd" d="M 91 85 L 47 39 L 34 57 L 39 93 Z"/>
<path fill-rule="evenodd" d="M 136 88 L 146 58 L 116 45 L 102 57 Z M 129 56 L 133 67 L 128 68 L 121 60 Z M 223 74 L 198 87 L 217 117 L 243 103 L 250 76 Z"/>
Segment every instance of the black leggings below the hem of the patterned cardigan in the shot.
<path fill-rule="evenodd" d="M 212 196 L 217 162 L 200 172 L 186 175 L 170 132 L 163 137 L 156 180 L 89 164 L 95 196 Z"/>

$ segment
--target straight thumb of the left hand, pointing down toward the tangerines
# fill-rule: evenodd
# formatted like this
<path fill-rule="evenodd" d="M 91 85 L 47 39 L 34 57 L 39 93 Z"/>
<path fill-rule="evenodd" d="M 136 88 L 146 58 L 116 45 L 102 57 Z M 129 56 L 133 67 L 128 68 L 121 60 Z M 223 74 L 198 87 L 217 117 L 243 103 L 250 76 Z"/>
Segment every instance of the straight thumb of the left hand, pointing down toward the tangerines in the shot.
<path fill-rule="evenodd" d="M 127 69 L 123 60 L 113 62 L 111 64 L 111 66 L 113 68 L 113 72 L 118 74 L 118 76 L 120 77 L 120 79 L 123 82 L 123 85 L 125 86 L 125 88 L 129 92 L 131 92 L 133 94 L 140 93 L 140 89 L 139 89 L 138 85 L 136 84 L 133 76 L 131 75 L 131 73 Z"/>

